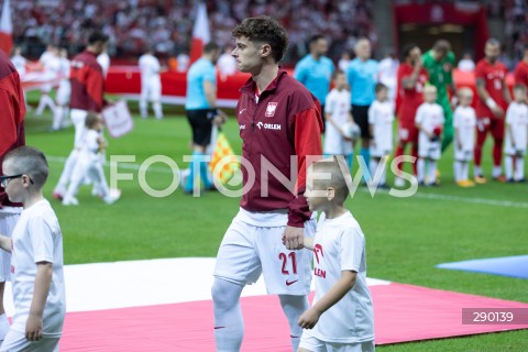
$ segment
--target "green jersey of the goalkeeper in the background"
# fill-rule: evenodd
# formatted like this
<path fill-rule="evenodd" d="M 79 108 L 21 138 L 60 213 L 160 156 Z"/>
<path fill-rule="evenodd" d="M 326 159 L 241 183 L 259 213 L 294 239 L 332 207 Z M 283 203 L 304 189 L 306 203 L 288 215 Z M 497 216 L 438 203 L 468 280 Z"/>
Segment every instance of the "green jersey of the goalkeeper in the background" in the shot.
<path fill-rule="evenodd" d="M 438 89 L 437 101 L 441 105 L 449 103 L 448 86 L 453 82 L 454 54 L 449 52 L 441 62 L 437 62 L 432 53 L 430 50 L 424 54 L 424 67 L 429 73 L 429 82 Z"/>

